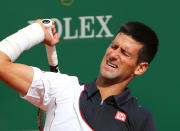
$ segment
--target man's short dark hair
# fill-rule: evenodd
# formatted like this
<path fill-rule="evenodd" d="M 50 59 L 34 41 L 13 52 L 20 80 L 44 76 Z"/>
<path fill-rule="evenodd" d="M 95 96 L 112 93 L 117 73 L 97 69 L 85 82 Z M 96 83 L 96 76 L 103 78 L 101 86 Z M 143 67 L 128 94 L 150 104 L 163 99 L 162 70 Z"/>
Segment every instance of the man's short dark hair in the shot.
<path fill-rule="evenodd" d="M 134 40 L 143 44 L 139 51 L 137 63 L 150 63 L 158 50 L 158 37 L 148 26 L 140 22 L 128 22 L 120 27 L 119 33 L 131 36 Z"/>

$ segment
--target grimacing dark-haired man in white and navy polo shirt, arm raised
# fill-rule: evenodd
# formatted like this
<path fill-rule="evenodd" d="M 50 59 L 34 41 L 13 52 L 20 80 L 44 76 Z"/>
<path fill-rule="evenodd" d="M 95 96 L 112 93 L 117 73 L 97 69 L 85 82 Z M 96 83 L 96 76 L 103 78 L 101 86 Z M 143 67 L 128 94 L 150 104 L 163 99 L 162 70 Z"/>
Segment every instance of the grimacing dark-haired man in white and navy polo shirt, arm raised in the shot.
<path fill-rule="evenodd" d="M 157 52 L 158 38 L 152 29 L 139 22 L 122 25 L 104 55 L 99 76 L 85 85 L 74 76 L 12 63 L 40 42 L 58 43 L 54 25 L 52 32 L 53 38 L 37 20 L 0 43 L 0 79 L 46 111 L 45 131 L 156 130 L 152 115 L 127 88 Z"/>

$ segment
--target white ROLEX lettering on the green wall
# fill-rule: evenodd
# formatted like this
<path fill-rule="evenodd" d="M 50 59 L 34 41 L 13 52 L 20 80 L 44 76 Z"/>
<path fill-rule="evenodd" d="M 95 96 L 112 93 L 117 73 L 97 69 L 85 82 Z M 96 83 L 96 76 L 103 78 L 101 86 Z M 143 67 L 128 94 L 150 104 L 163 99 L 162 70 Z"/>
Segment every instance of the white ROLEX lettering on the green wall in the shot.
<path fill-rule="evenodd" d="M 107 16 L 79 16 L 80 27 L 78 29 L 72 29 L 71 24 L 74 24 L 71 17 L 62 18 L 59 20 L 57 18 L 53 18 L 55 24 L 57 26 L 57 33 L 61 39 L 84 39 L 84 38 L 103 38 L 103 37 L 113 37 L 113 34 L 110 32 L 108 28 L 108 23 L 112 15 Z M 97 19 L 97 21 L 95 20 Z M 29 20 L 28 23 L 32 24 L 34 20 Z M 78 23 L 77 23 L 78 24 Z M 97 34 L 95 34 L 95 27 L 98 27 L 100 24 L 101 28 Z M 98 25 L 98 26 L 97 26 Z"/>

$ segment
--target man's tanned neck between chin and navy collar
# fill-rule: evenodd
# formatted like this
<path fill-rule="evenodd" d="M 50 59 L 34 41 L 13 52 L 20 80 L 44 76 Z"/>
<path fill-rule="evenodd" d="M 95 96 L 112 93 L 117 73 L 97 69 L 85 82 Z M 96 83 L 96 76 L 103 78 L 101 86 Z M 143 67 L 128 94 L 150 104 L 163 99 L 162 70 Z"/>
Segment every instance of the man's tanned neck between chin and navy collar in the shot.
<path fill-rule="evenodd" d="M 100 91 L 102 100 L 105 100 L 107 97 L 112 95 L 121 94 L 132 79 L 133 77 L 130 77 L 126 80 L 120 81 L 99 76 L 96 80 L 96 85 Z"/>

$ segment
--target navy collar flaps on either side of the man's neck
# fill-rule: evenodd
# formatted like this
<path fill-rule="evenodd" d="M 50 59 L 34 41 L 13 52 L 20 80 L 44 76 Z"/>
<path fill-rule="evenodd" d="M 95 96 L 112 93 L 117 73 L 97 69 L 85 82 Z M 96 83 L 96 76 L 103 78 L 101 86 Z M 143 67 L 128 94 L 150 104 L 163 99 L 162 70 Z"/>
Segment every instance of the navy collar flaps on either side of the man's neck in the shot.
<path fill-rule="evenodd" d="M 88 98 L 99 92 L 99 89 L 96 86 L 96 79 L 92 83 L 86 85 L 86 91 L 88 94 Z M 121 94 L 113 95 L 110 97 L 112 97 L 115 104 L 119 106 L 123 103 L 126 103 L 132 96 L 130 93 L 130 89 L 127 87 Z"/>

